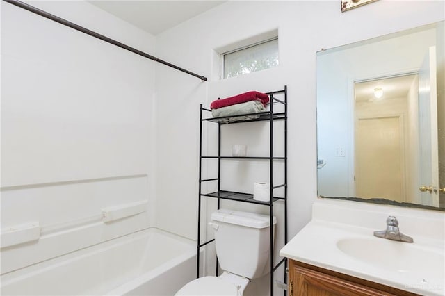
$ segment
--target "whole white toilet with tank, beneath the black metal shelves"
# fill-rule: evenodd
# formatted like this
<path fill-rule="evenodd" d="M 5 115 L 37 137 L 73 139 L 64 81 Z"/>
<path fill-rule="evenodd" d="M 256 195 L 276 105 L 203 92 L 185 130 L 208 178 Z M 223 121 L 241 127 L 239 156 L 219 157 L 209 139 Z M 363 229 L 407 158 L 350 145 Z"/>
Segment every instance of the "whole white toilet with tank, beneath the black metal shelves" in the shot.
<path fill-rule="evenodd" d="M 212 213 L 211 220 L 216 255 L 224 272 L 187 283 L 177 296 L 241 296 L 250 279 L 270 271 L 270 216 L 221 209 Z M 273 217 L 273 227 L 276 223 Z"/>

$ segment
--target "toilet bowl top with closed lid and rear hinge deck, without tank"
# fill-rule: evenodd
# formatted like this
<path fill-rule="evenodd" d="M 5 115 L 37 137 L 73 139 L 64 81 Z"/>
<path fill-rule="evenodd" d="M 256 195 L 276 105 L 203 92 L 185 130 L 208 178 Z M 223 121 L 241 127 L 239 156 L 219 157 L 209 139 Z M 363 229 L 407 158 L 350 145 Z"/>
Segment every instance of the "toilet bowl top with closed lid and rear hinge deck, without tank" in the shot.
<path fill-rule="evenodd" d="M 249 279 L 230 272 L 219 277 L 200 277 L 182 287 L 175 296 L 242 296 Z"/>

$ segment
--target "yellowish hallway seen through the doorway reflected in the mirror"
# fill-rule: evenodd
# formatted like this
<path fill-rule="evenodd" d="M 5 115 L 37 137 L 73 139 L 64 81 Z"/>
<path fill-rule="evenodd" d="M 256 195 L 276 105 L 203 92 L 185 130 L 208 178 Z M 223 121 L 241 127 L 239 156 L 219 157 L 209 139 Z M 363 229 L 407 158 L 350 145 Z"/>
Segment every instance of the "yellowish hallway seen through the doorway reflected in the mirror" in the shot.
<path fill-rule="evenodd" d="M 355 83 L 356 196 L 420 202 L 418 81 L 407 74 Z"/>

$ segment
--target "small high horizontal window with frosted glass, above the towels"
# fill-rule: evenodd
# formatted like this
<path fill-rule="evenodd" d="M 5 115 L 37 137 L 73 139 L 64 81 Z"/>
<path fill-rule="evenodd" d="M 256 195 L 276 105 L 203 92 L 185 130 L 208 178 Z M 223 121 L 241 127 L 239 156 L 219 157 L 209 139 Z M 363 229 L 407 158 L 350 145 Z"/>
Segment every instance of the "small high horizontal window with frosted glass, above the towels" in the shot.
<path fill-rule="evenodd" d="M 269 69 L 279 64 L 278 38 L 221 54 L 223 77 L 230 78 Z"/>

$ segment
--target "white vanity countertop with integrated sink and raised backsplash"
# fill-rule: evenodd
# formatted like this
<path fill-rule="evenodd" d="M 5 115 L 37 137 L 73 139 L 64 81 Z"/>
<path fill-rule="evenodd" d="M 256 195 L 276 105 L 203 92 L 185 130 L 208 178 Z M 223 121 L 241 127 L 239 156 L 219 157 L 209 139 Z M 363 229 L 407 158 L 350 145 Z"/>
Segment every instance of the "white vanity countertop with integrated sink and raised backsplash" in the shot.
<path fill-rule="evenodd" d="M 413 243 L 377 238 L 389 215 Z M 421 295 L 445 293 L 445 213 L 318 199 L 281 256 Z"/>

